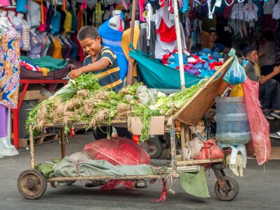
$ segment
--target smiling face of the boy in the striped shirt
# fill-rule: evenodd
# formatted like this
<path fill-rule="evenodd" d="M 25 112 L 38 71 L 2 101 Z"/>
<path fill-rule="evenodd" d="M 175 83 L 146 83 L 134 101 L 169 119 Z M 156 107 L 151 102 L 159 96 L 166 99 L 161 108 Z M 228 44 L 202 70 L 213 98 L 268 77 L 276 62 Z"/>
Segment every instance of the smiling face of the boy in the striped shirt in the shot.
<path fill-rule="evenodd" d="M 82 50 L 87 55 L 96 56 L 101 48 L 101 37 L 97 36 L 94 38 L 84 38 L 84 40 L 80 41 L 80 45 L 82 46 Z"/>

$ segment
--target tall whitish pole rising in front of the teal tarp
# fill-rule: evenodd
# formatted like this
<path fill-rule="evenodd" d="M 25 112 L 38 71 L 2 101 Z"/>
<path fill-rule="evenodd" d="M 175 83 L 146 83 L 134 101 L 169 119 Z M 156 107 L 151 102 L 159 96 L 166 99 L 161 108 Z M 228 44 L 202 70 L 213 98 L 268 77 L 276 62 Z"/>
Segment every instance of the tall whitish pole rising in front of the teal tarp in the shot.
<path fill-rule="evenodd" d="M 174 15 L 175 15 L 175 29 L 176 29 L 176 36 L 177 36 L 181 89 L 185 89 L 183 50 L 182 50 L 182 40 L 181 40 L 177 0 L 172 0 L 172 3 L 173 3 Z"/>

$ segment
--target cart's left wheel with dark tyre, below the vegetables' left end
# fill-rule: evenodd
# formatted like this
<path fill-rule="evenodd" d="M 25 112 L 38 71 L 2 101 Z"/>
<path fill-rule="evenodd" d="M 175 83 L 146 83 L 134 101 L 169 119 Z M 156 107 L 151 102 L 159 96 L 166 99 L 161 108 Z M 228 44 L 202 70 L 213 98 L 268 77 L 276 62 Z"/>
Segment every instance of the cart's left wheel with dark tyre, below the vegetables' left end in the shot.
<path fill-rule="evenodd" d="M 17 179 L 17 189 L 27 199 L 38 199 L 47 189 L 47 181 L 45 176 L 36 169 L 29 169 Z"/>

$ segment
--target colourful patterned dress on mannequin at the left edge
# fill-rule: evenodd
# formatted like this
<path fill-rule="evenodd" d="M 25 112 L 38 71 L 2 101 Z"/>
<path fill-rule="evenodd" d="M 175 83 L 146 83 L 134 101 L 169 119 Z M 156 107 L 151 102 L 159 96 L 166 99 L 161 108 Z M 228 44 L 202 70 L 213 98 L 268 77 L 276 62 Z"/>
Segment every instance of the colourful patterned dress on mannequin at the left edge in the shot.
<path fill-rule="evenodd" d="M 0 105 L 17 109 L 20 85 L 20 34 L 13 28 L 2 31 L 0 40 Z"/>

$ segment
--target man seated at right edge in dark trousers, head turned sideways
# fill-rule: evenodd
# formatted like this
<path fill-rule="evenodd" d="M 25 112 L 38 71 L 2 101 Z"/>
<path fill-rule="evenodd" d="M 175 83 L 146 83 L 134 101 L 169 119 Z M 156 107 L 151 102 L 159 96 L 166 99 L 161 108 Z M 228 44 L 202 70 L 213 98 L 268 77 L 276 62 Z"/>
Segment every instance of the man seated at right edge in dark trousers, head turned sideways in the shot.
<path fill-rule="evenodd" d="M 247 45 L 243 50 L 244 57 L 251 60 L 251 62 L 258 61 L 258 52 L 256 47 Z M 280 66 L 275 66 L 272 73 L 262 76 L 261 73 L 257 73 L 253 68 L 246 68 L 246 75 L 254 81 L 260 83 L 260 103 L 262 105 L 263 114 L 265 118 L 274 120 L 274 118 L 280 119 L 280 86 L 277 80 L 272 79 L 280 73 Z"/>

